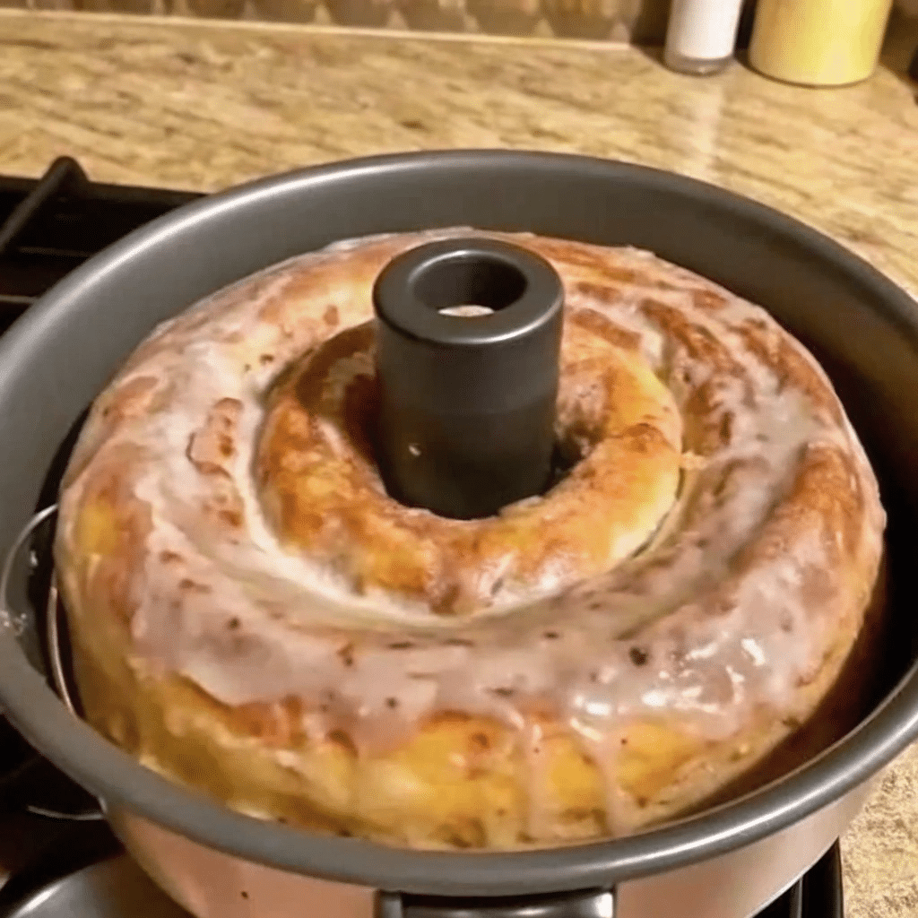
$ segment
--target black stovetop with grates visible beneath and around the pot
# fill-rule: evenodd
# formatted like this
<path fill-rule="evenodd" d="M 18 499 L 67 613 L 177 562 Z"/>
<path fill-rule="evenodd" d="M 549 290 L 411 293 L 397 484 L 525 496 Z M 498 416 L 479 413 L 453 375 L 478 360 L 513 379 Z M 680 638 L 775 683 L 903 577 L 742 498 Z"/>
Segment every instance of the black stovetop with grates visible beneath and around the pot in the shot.
<path fill-rule="evenodd" d="M 0 334 L 95 252 L 196 197 L 96 184 L 69 157 L 39 180 L 0 176 Z M 185 912 L 124 854 L 95 801 L 0 715 L 0 918 L 27 915 L 181 918 Z M 836 844 L 757 918 L 843 915 Z"/>

